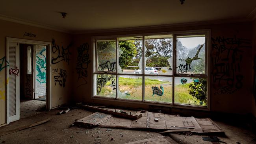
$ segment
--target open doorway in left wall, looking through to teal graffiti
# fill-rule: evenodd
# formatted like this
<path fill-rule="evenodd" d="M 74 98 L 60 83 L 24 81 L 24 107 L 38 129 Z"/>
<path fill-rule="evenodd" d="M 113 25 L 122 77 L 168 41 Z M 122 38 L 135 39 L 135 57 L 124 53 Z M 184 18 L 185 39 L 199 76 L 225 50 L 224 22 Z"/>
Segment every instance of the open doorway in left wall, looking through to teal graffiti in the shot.
<path fill-rule="evenodd" d="M 20 118 L 27 118 L 46 107 L 46 46 L 19 44 Z"/>

